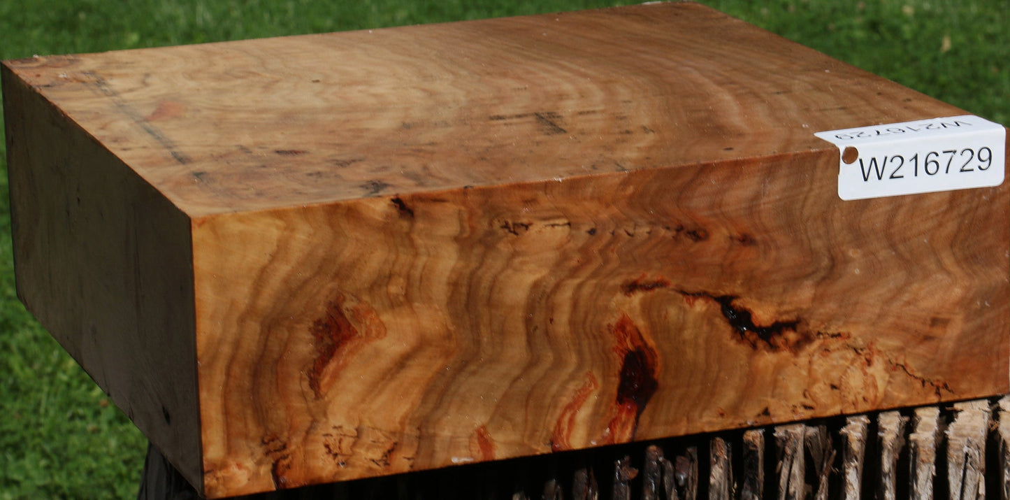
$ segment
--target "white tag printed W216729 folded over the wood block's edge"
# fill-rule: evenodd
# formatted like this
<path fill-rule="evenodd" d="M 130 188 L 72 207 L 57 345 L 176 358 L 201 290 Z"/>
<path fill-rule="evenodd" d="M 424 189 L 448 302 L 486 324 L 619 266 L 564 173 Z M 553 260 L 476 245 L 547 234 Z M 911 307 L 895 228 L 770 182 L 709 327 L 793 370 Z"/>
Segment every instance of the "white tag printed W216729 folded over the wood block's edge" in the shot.
<path fill-rule="evenodd" d="M 814 135 L 838 146 L 838 197 L 842 200 L 1003 184 L 1006 128 L 975 115 Z"/>

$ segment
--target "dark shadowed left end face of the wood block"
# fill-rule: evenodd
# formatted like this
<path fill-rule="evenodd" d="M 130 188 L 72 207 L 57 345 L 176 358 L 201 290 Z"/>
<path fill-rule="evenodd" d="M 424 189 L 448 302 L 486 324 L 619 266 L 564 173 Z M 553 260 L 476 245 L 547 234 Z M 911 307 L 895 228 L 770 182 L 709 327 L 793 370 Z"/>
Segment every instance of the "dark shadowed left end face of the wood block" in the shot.
<path fill-rule="evenodd" d="M 2 77 L 18 297 L 199 486 L 189 217 Z"/>

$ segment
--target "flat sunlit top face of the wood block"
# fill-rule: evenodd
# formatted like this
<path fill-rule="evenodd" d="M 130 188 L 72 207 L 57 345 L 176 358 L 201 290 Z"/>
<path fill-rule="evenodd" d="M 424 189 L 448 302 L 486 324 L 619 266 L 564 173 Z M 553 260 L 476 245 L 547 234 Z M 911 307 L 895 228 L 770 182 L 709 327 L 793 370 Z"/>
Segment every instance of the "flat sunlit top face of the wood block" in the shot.
<path fill-rule="evenodd" d="M 964 114 L 690 3 L 15 62 L 191 216 L 829 151 Z"/>

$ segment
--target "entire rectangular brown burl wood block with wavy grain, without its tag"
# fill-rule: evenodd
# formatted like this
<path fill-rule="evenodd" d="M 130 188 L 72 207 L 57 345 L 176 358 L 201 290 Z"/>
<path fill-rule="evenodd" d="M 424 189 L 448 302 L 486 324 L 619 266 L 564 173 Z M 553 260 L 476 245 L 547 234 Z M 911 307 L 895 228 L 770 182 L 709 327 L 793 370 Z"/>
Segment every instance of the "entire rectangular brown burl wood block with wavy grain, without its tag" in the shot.
<path fill-rule="evenodd" d="M 966 114 L 690 3 L 8 61 L 18 293 L 209 497 L 1010 390 Z"/>

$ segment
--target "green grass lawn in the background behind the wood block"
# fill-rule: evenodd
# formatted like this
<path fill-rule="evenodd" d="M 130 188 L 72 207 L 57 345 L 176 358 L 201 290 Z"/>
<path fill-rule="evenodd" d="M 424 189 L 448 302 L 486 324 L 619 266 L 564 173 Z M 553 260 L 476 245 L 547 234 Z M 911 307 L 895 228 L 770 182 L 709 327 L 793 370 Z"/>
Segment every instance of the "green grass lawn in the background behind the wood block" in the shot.
<path fill-rule="evenodd" d="M 607 1 L 0 2 L 0 59 L 574 10 Z M 989 119 L 1010 122 L 1010 9 L 992 0 L 704 0 Z M 2 130 L 2 123 L 0 123 Z M 2 145 L 0 145 L 2 147 Z M 0 155 L 0 500 L 128 498 L 145 440 L 21 307 Z"/>

